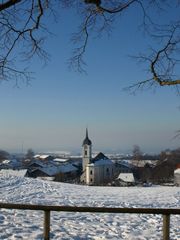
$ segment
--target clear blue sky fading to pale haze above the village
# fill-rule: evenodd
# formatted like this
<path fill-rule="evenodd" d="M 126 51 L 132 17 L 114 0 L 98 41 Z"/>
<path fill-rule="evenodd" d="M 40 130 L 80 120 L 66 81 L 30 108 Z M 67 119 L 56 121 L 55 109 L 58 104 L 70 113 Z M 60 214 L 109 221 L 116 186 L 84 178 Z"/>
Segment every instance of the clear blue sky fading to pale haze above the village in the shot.
<path fill-rule="evenodd" d="M 144 66 L 129 57 L 148 45 L 135 24 L 140 16 L 131 11 L 130 19 L 115 23 L 111 36 L 91 39 L 85 56 L 87 74 L 67 66 L 77 16 L 66 11 L 59 23 L 48 23 L 56 34 L 46 42 L 48 64 L 30 62 L 34 71 L 30 86 L 0 85 L 1 149 L 21 151 L 23 145 L 24 151 L 80 152 L 86 126 L 97 151 L 131 152 L 134 144 L 149 153 L 179 147 L 180 139 L 173 137 L 180 129 L 180 96 L 165 87 L 136 95 L 123 91 L 147 77 Z"/>

